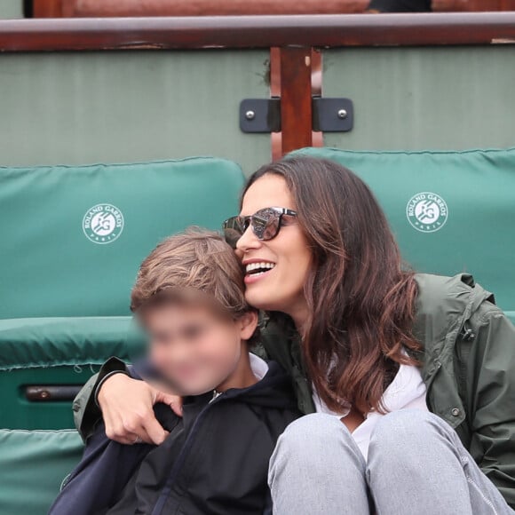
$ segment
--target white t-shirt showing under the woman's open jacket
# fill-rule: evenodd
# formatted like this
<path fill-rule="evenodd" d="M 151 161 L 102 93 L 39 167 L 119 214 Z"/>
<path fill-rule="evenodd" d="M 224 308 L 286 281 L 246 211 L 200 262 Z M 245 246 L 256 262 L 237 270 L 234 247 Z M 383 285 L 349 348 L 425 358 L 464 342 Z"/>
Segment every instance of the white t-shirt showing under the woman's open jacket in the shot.
<path fill-rule="evenodd" d="M 429 411 L 425 403 L 425 394 L 426 388 L 420 370 L 413 365 L 400 365 L 399 371 L 393 378 L 392 383 L 384 391 L 382 400 L 386 413 L 400 409 L 422 409 Z M 316 392 L 313 393 L 313 401 L 318 413 L 328 413 L 329 415 L 342 418 L 347 416 L 350 411 L 350 409 L 345 413 L 331 411 Z M 365 417 L 363 423 L 353 432 L 353 439 L 358 444 L 362 455 L 365 457 L 365 461 L 368 458 L 370 437 L 381 416 L 384 415 L 371 411 Z"/>

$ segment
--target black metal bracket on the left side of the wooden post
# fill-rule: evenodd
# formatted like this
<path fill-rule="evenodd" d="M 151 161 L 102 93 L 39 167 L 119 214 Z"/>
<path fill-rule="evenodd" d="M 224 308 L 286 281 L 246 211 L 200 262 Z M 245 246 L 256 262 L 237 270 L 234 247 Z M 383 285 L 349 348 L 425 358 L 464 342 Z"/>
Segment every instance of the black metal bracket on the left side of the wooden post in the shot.
<path fill-rule="evenodd" d="M 240 103 L 242 132 L 281 131 L 281 99 L 244 99 Z"/>

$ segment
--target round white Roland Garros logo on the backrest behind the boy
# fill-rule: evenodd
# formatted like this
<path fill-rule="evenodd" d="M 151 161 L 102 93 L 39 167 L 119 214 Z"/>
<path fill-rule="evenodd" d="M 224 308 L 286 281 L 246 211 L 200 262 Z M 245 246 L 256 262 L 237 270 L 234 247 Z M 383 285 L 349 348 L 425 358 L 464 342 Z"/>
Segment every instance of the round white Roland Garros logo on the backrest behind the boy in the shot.
<path fill-rule="evenodd" d="M 83 218 L 83 232 L 93 243 L 112 243 L 123 231 L 122 211 L 113 204 L 97 204 Z"/>

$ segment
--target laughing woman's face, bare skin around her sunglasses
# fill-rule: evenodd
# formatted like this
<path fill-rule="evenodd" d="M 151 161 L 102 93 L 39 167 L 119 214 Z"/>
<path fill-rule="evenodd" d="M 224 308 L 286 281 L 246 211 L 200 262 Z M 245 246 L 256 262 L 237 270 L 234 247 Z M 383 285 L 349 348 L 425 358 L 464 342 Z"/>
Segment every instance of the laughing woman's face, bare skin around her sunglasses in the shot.
<path fill-rule="evenodd" d="M 271 207 L 297 210 L 285 179 L 268 173 L 249 187 L 240 214 L 249 216 Z M 304 285 L 311 251 L 297 218 L 283 216 L 279 234 L 268 242 L 258 240 L 249 226 L 237 243 L 236 253 L 247 269 L 245 297 L 249 304 L 266 311 L 288 313 L 297 326 L 304 323 Z M 252 270 L 256 263 L 269 270 L 256 273 Z"/>

